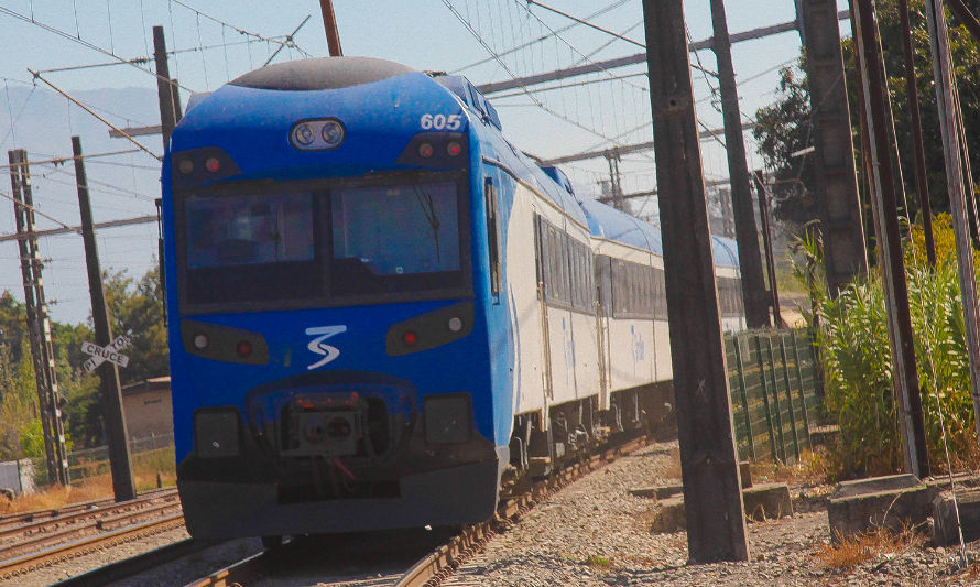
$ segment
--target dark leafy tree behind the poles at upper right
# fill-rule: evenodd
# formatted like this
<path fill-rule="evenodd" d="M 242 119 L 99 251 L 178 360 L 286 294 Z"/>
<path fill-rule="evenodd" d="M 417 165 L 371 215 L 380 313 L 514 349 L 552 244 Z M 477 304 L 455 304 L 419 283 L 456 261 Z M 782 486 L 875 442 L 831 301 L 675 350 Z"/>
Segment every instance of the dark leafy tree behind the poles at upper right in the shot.
<path fill-rule="evenodd" d="M 928 32 L 926 30 L 925 14 L 923 13 L 924 0 L 910 0 L 911 21 L 913 29 L 913 45 L 915 61 L 915 79 L 919 98 L 919 109 L 923 120 L 923 141 L 925 143 L 926 169 L 929 184 L 929 198 L 934 211 L 949 209 L 946 194 L 946 174 L 943 159 L 943 146 L 939 135 L 938 113 L 936 110 L 936 95 L 933 91 L 933 66 L 928 48 Z M 980 0 L 966 0 L 966 4 L 974 13 L 980 12 Z M 899 30 L 899 12 L 895 0 L 881 0 L 876 2 L 878 21 L 881 31 L 881 44 L 888 72 L 888 84 L 892 101 L 892 111 L 895 121 L 895 139 L 899 144 L 899 162 L 903 171 L 905 193 L 910 209 L 908 216 L 917 211 L 917 195 L 915 191 L 913 172 L 913 151 L 911 145 L 911 129 L 906 112 L 908 111 L 905 93 L 905 65 L 902 56 L 902 39 Z M 952 63 L 959 83 L 960 101 L 962 102 L 963 123 L 967 129 L 967 142 L 970 153 L 980 153 L 980 68 L 976 64 L 980 62 L 980 52 L 977 43 L 969 32 L 955 19 L 949 19 L 949 40 L 952 51 Z M 851 126 L 853 135 L 859 132 L 859 104 L 857 88 L 859 78 L 854 69 L 853 43 L 843 41 L 845 76 L 847 78 L 848 96 L 851 108 Z M 790 153 L 813 144 L 809 140 L 809 95 L 807 93 L 806 76 L 797 77 L 793 69 L 782 73 L 777 87 L 778 100 L 771 106 L 761 108 L 756 112 L 759 126 L 753 130 L 753 135 L 759 142 L 759 153 L 765 161 L 766 167 L 774 172 L 777 180 L 792 180 L 799 177 L 801 185 L 776 184 L 776 216 L 786 222 L 799 225 L 816 218 L 814 195 L 807 186 L 814 185 L 810 174 L 812 165 L 798 159 L 791 159 Z M 856 150 L 860 150 L 860 142 L 856 140 Z M 858 160 L 860 163 L 860 159 Z M 859 186 L 864 189 L 862 171 L 859 169 Z M 867 202 L 867 197 L 863 198 Z"/>

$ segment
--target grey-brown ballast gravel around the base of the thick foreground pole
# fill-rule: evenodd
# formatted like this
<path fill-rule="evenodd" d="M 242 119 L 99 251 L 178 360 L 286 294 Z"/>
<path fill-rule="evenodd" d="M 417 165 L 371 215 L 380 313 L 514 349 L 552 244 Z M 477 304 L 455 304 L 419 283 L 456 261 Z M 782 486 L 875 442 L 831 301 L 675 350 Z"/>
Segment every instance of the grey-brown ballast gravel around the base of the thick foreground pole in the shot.
<path fill-rule="evenodd" d="M 980 585 L 960 568 L 959 548 L 884 553 L 850 569 L 830 569 L 816 556 L 829 544 L 819 500 L 792 518 L 748 525 L 751 562 L 687 564 L 685 532 L 653 533 L 655 500 L 636 487 L 680 480 L 677 443 L 651 445 L 552 496 L 466 562 L 446 587 L 553 586 L 918 586 Z M 761 481 L 760 479 L 755 480 Z M 791 488 L 794 496 L 806 494 Z M 819 491 L 809 490 L 810 493 Z M 968 544 L 977 555 L 977 544 Z"/>

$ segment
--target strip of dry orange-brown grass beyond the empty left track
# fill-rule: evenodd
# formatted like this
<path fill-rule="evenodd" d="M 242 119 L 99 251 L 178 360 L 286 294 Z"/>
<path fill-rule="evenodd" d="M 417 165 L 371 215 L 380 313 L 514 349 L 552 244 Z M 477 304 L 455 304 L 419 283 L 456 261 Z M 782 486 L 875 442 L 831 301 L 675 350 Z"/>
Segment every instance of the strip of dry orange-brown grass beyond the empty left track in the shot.
<path fill-rule="evenodd" d="M 173 454 L 173 448 L 163 448 L 133 456 L 133 483 L 137 491 L 155 488 L 157 475 L 163 487 L 176 485 Z M 91 464 L 88 470 L 95 475 L 74 481 L 69 487 L 50 487 L 35 493 L 18 496 L 13 501 L 0 499 L 0 514 L 50 510 L 112 496 L 112 477 L 106 472 L 108 464 L 105 461 Z"/>

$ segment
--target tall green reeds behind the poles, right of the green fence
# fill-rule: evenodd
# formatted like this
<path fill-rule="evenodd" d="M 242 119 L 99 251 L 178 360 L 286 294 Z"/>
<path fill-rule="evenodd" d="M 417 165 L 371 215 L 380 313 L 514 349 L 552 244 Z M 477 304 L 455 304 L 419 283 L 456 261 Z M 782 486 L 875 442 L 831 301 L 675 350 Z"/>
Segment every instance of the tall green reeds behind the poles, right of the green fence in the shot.
<path fill-rule="evenodd" d="M 935 231 L 938 242 L 951 242 L 948 218 L 938 217 Z M 912 233 L 912 241 L 905 242 L 910 314 L 929 459 L 941 471 L 946 469 L 944 421 L 954 468 L 980 460 L 962 303 L 954 251 L 940 247 L 938 263 L 930 269 L 922 253 L 922 230 L 913 227 Z M 817 242 L 805 241 L 803 248 L 819 260 Z M 813 315 L 808 319 L 817 327 L 826 407 L 840 426 L 830 456 L 832 469 L 840 478 L 899 472 L 902 441 L 881 280 L 872 274 L 831 300 L 817 275 L 813 290 L 817 319 Z"/>

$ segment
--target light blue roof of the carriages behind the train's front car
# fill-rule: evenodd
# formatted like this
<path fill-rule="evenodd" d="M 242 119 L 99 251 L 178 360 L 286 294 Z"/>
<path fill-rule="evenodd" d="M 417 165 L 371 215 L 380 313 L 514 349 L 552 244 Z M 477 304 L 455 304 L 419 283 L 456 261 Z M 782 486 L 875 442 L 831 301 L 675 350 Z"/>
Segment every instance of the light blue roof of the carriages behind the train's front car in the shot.
<path fill-rule="evenodd" d="M 656 254 L 664 253 L 658 228 L 595 199 L 581 202 L 581 209 L 594 237 L 622 242 Z M 739 267 L 739 248 L 736 241 L 711 235 L 711 252 L 715 265 Z"/>

